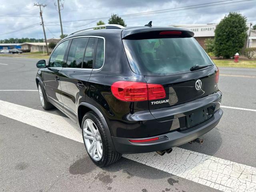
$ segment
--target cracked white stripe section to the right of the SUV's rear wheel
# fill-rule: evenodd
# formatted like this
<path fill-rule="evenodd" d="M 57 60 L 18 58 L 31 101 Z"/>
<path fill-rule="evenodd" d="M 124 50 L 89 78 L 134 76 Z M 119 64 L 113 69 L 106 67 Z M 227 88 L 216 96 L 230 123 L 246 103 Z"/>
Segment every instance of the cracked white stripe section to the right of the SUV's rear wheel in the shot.
<path fill-rule="evenodd" d="M 255 192 L 256 168 L 175 147 L 172 153 L 126 154 L 125 158 L 225 192 Z"/>

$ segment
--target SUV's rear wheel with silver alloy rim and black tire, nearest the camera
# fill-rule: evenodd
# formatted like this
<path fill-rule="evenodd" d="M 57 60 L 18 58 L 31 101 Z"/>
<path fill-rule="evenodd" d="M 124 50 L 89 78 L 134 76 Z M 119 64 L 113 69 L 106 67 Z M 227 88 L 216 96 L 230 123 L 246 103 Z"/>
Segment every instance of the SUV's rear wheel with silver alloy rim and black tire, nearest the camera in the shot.
<path fill-rule="evenodd" d="M 93 128 L 94 130 L 92 130 Z M 96 113 L 90 111 L 84 115 L 82 120 L 84 146 L 91 160 L 99 167 L 113 164 L 122 157 L 122 154 L 111 150 L 105 129 Z M 93 143 L 94 146 L 92 146 Z M 92 148 L 90 148 L 90 146 L 92 146 Z"/>

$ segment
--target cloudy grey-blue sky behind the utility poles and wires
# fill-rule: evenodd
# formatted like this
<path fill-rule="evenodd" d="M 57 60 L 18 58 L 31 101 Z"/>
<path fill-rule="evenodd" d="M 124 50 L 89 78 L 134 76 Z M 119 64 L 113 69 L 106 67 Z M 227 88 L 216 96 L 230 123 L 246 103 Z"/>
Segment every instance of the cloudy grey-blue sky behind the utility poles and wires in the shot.
<path fill-rule="evenodd" d="M 47 4 L 43 9 L 47 38 L 58 38 L 61 34 L 54 2 L 57 3 L 57 0 L 40 1 L 42 4 Z M 102 20 L 107 23 L 108 17 L 113 13 L 126 15 L 122 18 L 127 26 L 141 26 L 150 20 L 155 26 L 218 23 L 231 11 L 240 12 L 247 17 L 248 22 L 256 24 L 256 0 L 62 0 L 61 2 L 64 4 L 61 10 L 64 34 L 95 26 L 100 20 L 97 18 L 104 18 Z M 220 5 L 208 6 L 207 3 L 210 2 L 219 2 L 215 4 Z M 0 39 L 43 38 L 39 7 L 33 6 L 34 3 L 36 1 L 33 0 L 0 0 Z M 205 5 L 197 8 L 180 8 L 198 4 Z M 171 8 L 180 9 L 127 16 L 127 14 Z"/>

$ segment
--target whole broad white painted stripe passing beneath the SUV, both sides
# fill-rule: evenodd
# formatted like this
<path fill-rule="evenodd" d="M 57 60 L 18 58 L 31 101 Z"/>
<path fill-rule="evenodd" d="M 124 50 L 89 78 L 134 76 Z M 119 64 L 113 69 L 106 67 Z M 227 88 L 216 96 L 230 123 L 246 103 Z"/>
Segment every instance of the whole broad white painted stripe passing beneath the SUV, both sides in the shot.
<path fill-rule="evenodd" d="M 83 142 L 80 128 L 67 117 L 2 100 L 0 100 L 0 115 Z M 155 152 L 123 156 L 224 192 L 256 191 L 256 168 L 252 166 L 178 147 L 164 156 Z"/>

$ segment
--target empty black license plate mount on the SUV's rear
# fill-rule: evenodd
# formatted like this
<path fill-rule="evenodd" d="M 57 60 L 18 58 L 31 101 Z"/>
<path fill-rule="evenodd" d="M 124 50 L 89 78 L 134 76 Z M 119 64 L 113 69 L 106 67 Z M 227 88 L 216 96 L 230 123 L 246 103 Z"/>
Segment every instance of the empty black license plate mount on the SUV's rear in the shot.
<path fill-rule="evenodd" d="M 207 119 L 207 109 L 196 110 L 192 114 L 186 116 L 186 127 L 192 127 Z"/>

